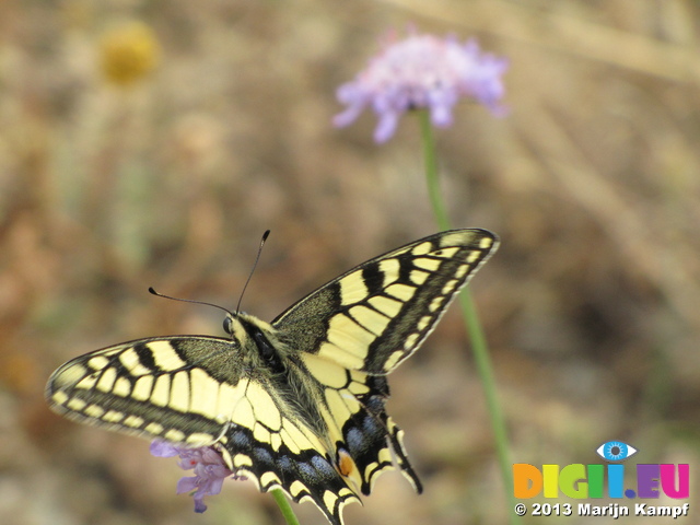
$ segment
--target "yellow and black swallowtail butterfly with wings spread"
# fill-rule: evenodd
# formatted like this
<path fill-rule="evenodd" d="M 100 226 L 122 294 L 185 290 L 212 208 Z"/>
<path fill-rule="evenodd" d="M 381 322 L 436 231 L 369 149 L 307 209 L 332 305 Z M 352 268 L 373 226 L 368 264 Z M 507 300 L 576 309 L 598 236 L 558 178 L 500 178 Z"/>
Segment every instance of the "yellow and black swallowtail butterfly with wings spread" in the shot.
<path fill-rule="evenodd" d="M 75 358 L 46 397 L 81 422 L 180 446 L 212 446 L 261 491 L 342 508 L 398 468 L 421 485 L 386 412 L 386 374 L 413 353 L 498 246 L 455 230 L 375 257 L 271 324 L 235 313 L 229 338 L 141 339 Z"/>

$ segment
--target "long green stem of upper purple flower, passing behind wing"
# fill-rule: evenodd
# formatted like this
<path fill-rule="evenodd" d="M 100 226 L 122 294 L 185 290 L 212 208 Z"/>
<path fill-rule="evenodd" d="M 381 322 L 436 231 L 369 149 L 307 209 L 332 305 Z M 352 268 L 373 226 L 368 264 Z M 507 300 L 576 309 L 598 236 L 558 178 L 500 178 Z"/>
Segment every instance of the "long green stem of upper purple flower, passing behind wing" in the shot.
<path fill-rule="evenodd" d="M 430 196 L 430 202 L 432 205 L 433 213 L 438 221 L 438 226 L 441 230 L 450 230 L 450 218 L 445 210 L 445 203 L 442 199 L 440 191 L 440 179 L 438 173 L 438 154 L 435 148 L 435 136 L 433 133 L 433 127 L 430 121 L 430 115 L 427 110 L 420 110 L 419 120 L 421 128 L 421 137 L 423 142 L 423 156 L 425 159 L 425 177 L 428 179 L 428 194 Z M 465 289 L 459 294 L 459 303 L 462 304 L 462 314 L 464 317 L 469 338 L 471 339 L 471 351 L 474 353 L 474 361 L 477 368 L 477 373 L 481 378 L 481 386 L 483 387 L 483 395 L 486 398 L 487 410 L 491 419 L 491 428 L 493 430 L 493 439 L 495 442 L 495 452 L 499 460 L 499 467 L 501 469 L 501 477 L 503 479 L 503 486 L 505 491 L 505 499 L 509 502 L 509 508 L 513 509 L 515 505 L 515 498 L 513 495 L 513 476 L 511 470 L 511 460 L 509 453 L 508 433 L 505 431 L 505 420 L 499 404 L 495 378 L 493 376 L 493 366 L 491 365 L 491 357 L 489 354 L 489 347 L 477 315 L 477 310 L 471 299 L 469 289 Z M 509 512 L 510 522 L 512 524 L 521 523 L 520 517 Z"/>

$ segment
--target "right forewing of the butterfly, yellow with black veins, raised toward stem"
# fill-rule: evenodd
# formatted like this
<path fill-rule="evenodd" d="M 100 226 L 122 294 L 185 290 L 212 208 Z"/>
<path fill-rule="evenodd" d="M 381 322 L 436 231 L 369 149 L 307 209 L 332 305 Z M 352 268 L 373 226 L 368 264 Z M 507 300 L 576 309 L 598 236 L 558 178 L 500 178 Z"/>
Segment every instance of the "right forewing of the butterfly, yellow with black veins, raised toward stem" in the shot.
<path fill-rule="evenodd" d="M 300 351 L 388 373 L 418 349 L 497 247 L 486 230 L 431 235 L 353 268 L 272 324 Z"/>

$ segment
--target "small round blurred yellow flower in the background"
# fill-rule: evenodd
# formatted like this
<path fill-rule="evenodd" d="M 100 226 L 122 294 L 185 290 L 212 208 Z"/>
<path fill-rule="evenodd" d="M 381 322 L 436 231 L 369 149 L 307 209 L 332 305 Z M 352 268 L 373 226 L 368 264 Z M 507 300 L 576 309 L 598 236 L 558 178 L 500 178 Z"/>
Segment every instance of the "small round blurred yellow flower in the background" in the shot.
<path fill-rule="evenodd" d="M 148 75 L 158 65 L 160 45 L 151 27 L 131 22 L 106 33 L 100 42 L 100 60 L 105 78 L 129 85 Z"/>

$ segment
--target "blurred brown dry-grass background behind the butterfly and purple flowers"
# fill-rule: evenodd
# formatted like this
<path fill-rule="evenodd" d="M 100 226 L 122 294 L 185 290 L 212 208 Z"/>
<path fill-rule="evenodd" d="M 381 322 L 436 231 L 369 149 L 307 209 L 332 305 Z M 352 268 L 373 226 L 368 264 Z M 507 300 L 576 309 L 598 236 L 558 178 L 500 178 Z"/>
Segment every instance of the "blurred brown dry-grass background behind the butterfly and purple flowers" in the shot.
<path fill-rule="evenodd" d="M 382 147 L 372 115 L 330 126 L 336 88 L 410 24 L 511 61 L 510 116 L 460 104 L 438 140 L 453 223 L 502 238 L 472 292 L 512 460 L 603 463 L 618 439 L 640 463 L 691 464 L 697 487 L 699 15 L 690 0 L 0 1 L 0 522 L 281 523 L 252 482 L 194 514 L 175 460 L 54 416 L 44 384 L 122 340 L 222 334 L 220 312 L 147 288 L 234 307 L 266 229 L 243 300 L 265 319 L 433 233 L 417 121 Z M 457 308 L 392 387 L 425 493 L 386 474 L 348 524 L 504 523 Z M 540 522 L 584 520 L 525 521 Z"/>

